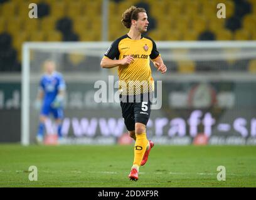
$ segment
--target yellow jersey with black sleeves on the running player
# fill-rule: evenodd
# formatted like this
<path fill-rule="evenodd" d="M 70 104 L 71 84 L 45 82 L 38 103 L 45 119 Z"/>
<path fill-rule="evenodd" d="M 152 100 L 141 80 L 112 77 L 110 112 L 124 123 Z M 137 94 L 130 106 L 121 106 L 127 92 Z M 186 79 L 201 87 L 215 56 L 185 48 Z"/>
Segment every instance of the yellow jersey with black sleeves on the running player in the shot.
<path fill-rule="evenodd" d="M 151 76 L 150 59 L 159 56 L 156 43 L 147 36 L 131 39 L 127 34 L 119 37 L 104 54 L 104 58 L 123 59 L 132 56 L 134 62 L 118 66 L 119 91 L 122 95 L 150 93 L 154 91 L 154 79 Z"/>

